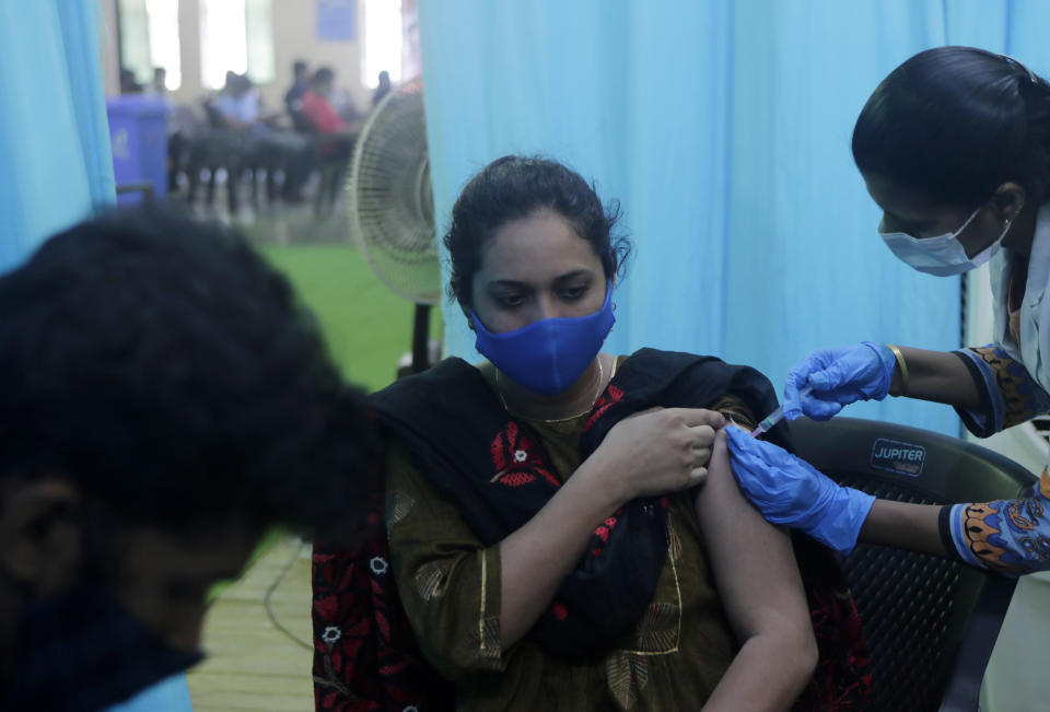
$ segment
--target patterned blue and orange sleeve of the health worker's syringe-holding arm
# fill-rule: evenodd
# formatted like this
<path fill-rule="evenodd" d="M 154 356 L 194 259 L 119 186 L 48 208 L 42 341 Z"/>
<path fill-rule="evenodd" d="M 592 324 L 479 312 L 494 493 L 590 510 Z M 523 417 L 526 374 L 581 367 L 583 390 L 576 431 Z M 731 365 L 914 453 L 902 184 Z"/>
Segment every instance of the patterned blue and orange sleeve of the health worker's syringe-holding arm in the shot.
<path fill-rule="evenodd" d="M 967 430 L 988 437 L 1050 410 L 1050 395 L 1020 361 L 995 345 L 954 352 L 966 363 L 981 396 L 976 410 L 956 408 Z"/>

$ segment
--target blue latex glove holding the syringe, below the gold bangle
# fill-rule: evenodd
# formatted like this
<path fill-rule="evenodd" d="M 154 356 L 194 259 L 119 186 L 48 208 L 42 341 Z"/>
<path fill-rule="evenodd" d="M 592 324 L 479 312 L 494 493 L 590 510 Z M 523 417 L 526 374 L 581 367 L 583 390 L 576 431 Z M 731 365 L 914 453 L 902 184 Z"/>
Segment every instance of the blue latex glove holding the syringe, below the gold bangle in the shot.
<path fill-rule="evenodd" d="M 812 351 L 788 374 L 784 417 L 828 420 L 851 402 L 882 400 L 889 393 L 896 365 L 894 352 L 873 341 Z M 806 385 L 813 392 L 802 400 L 798 390 Z"/>

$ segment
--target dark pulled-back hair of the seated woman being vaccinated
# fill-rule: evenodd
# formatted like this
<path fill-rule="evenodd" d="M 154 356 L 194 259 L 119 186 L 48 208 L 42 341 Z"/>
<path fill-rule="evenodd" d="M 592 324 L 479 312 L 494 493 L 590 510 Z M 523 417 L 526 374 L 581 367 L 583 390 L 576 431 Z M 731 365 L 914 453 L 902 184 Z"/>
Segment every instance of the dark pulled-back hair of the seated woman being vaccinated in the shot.
<path fill-rule="evenodd" d="M 627 237 L 612 235 L 619 205 L 603 206 L 593 185 L 557 161 L 505 155 L 474 176 L 452 209 L 444 238 L 452 257 L 450 295 L 470 306 L 485 244 L 508 222 L 544 209 L 564 218 L 591 243 L 607 278 L 619 275 L 631 252 Z"/>

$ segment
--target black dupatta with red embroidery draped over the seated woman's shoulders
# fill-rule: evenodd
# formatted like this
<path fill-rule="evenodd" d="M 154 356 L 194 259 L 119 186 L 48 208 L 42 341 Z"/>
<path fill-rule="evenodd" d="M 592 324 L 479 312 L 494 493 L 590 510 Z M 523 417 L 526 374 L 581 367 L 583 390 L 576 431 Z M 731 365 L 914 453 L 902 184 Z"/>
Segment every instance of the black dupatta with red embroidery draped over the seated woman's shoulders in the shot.
<path fill-rule="evenodd" d="M 725 395 L 740 398 L 756 413 L 777 407 L 771 384 L 754 369 L 642 349 L 620 365 L 595 402 L 581 436 L 581 460 L 631 413 L 654 406 L 710 407 Z M 395 383 L 371 405 L 487 547 L 528 522 L 560 487 L 540 439 L 460 359 Z M 788 444 L 783 428 L 770 436 Z M 632 500 L 595 528 L 586 552 L 530 633 L 548 652 L 600 653 L 639 620 L 667 557 L 666 506 L 665 498 Z"/>

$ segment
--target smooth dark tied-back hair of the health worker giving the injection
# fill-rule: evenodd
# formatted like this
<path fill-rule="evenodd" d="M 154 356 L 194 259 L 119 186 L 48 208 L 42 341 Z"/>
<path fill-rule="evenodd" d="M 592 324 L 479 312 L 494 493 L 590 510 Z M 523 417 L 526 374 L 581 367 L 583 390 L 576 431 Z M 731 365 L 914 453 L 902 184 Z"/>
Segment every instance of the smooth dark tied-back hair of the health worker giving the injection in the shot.
<path fill-rule="evenodd" d="M 947 205 L 973 207 L 1007 180 L 1041 200 L 1050 185 L 1050 84 L 983 49 L 919 52 L 867 100 L 853 160 L 865 176 Z"/>

